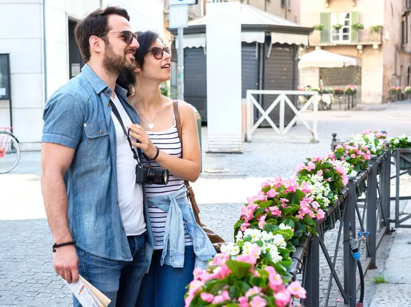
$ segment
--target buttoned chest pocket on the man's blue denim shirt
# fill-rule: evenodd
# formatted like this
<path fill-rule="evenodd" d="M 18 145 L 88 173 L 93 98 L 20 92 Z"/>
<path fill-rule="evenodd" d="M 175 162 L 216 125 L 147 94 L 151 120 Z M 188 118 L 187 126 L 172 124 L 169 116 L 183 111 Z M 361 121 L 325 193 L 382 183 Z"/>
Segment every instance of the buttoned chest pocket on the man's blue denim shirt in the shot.
<path fill-rule="evenodd" d="M 84 124 L 87 154 L 89 157 L 105 161 L 108 157 L 110 141 L 108 127 L 104 121 Z"/>

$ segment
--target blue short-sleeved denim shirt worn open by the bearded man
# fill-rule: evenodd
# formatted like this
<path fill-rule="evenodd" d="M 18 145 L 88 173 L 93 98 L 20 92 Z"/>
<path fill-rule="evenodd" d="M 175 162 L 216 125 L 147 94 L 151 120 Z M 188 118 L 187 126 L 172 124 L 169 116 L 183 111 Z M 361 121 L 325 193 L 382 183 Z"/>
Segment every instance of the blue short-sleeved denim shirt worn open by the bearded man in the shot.
<path fill-rule="evenodd" d="M 138 123 L 136 111 L 127 103 L 127 91 L 116 86 L 115 92 L 132 121 Z M 77 77 L 47 101 L 42 142 L 75 148 L 64 183 L 69 200 L 70 231 L 76 245 L 96 256 L 132 261 L 117 192 L 111 94 L 112 89 L 90 66 L 84 65 Z M 150 229 L 144 185 L 143 195 L 147 229 Z M 147 241 L 153 245 L 151 233 Z"/>

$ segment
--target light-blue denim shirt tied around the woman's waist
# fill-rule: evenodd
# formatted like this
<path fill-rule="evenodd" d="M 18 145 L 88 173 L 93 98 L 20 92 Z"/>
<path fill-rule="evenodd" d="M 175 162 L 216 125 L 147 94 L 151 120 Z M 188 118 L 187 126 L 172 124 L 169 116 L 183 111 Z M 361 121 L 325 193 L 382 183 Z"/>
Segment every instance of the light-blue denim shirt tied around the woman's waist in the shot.
<path fill-rule="evenodd" d="M 206 232 L 195 221 L 194 212 L 187 200 L 186 187 L 166 196 L 150 197 L 148 203 L 167 213 L 164 249 L 160 265 L 165 263 L 172 267 L 184 267 L 184 220 L 188 234 L 192 238 L 196 256 L 195 267 L 204 269 L 208 261 L 216 254 L 216 250 Z M 147 260 L 151 261 L 153 248 L 147 248 L 146 252 Z"/>

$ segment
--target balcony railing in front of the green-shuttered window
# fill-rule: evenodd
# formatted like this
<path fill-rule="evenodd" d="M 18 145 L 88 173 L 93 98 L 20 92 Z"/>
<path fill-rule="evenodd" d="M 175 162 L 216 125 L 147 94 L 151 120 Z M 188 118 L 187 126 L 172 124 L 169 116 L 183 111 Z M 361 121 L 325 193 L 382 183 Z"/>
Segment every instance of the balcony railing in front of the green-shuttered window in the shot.
<path fill-rule="evenodd" d="M 334 34 L 335 30 L 315 30 L 310 35 L 310 46 L 329 46 L 335 44 L 376 44 L 382 42 L 382 29 L 377 32 L 371 29 L 360 29 L 358 34 L 351 31 L 351 34 L 346 34 L 345 36 L 338 36 L 339 40 L 336 40 Z"/>

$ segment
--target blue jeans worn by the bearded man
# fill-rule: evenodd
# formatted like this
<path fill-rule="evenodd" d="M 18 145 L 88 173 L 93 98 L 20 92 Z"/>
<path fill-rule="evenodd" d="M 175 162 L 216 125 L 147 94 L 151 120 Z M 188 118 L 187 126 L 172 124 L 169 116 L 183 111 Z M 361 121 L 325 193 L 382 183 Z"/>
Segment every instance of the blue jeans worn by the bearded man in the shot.
<path fill-rule="evenodd" d="M 76 247 L 79 256 L 79 274 L 111 299 L 109 307 L 136 306 L 141 281 L 147 270 L 146 236 L 147 233 L 127 237 L 133 261 L 101 258 Z M 82 306 L 74 295 L 73 306 Z"/>

